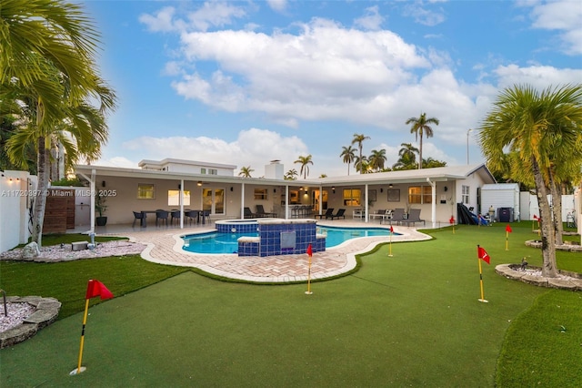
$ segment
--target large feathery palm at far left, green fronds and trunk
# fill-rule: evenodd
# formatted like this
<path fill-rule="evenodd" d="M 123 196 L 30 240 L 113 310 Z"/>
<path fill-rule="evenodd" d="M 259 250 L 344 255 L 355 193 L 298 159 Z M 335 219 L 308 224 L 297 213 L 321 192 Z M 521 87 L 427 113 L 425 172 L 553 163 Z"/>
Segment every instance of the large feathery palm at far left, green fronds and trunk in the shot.
<path fill-rule="evenodd" d="M 81 12 L 81 5 L 3 0 L 0 20 L 0 115 L 15 115 L 23 123 L 8 140 L 7 153 L 13 163 L 25 167 L 21 151 L 26 145 L 36 148 L 37 189 L 44 192 L 52 139 L 63 138 L 63 128 L 75 127 L 65 147 L 75 151 L 74 158 L 98 157 L 107 138 L 105 121 L 86 107 L 98 101 L 99 115 L 105 115 L 106 110 L 115 107 L 115 93 L 95 70 L 98 34 Z M 15 105 L 20 107 L 19 112 L 15 112 Z M 44 217 L 45 196 L 38 196 L 32 240 L 39 246 Z"/>

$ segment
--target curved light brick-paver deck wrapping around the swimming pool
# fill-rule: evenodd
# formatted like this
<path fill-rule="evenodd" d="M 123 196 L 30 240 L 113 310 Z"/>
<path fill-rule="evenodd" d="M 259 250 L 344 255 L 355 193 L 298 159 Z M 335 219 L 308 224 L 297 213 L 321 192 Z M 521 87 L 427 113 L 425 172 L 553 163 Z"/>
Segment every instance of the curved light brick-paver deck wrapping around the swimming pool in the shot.
<path fill-rule="evenodd" d="M 388 225 L 362 225 L 361 222 L 320 222 L 322 226 L 385 228 Z M 176 230 L 146 231 L 139 233 L 125 233 L 133 241 L 147 245 L 141 253 L 142 258 L 159 264 L 194 267 L 216 276 L 239 281 L 252 282 L 294 282 L 307 281 L 308 256 L 278 255 L 278 256 L 246 256 L 236 254 L 206 254 L 188 252 L 182 249 L 182 236 L 213 231 L 209 225 L 203 230 Z M 394 227 L 400 235 L 392 236 L 392 242 L 431 240 L 431 237 L 417 231 L 415 228 Z M 361 237 L 328 248 L 325 252 L 314 253 L 311 260 L 311 279 L 325 279 L 341 275 L 356 267 L 356 255 L 373 250 L 377 244 L 389 242 L 390 238 Z"/>

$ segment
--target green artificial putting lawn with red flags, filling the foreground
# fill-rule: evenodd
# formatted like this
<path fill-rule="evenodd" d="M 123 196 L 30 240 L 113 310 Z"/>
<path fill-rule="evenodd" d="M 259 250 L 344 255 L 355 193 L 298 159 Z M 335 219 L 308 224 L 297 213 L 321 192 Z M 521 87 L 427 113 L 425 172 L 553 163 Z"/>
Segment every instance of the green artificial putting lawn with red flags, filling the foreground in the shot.
<path fill-rule="evenodd" d="M 435 240 L 392 244 L 393 257 L 384 245 L 359 271 L 313 283 L 313 295 L 306 284 L 222 282 L 135 257 L 0 262 L 9 294 L 63 298 L 77 311 L 0 351 L 0 384 L 580 386 L 581 293 L 497 275 L 495 265 L 522 257 L 541 264 L 523 243 L 537 238 L 531 224 L 512 228 L 508 250 L 505 225 L 432 230 Z M 477 301 L 477 244 L 491 256 L 488 303 Z M 558 254 L 561 269 L 582 272 L 581 261 Z M 87 370 L 69 376 L 89 278 L 116 297 L 89 310 Z"/>

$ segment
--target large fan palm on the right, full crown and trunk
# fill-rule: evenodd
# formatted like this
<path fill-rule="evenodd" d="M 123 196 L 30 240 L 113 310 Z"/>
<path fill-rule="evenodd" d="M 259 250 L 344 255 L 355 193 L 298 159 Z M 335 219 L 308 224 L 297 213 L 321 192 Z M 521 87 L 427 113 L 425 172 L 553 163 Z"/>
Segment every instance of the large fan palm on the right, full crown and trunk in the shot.
<path fill-rule="evenodd" d="M 582 84 L 547 87 L 541 93 L 531 86 L 514 86 L 500 93 L 479 132 L 489 165 L 507 166 L 507 151 L 510 175 L 530 175 L 536 184 L 542 274 L 546 277 L 557 276 L 555 230 L 547 195 L 554 192 L 557 181 L 574 176 L 574 171 L 579 179 L 581 128 Z"/>

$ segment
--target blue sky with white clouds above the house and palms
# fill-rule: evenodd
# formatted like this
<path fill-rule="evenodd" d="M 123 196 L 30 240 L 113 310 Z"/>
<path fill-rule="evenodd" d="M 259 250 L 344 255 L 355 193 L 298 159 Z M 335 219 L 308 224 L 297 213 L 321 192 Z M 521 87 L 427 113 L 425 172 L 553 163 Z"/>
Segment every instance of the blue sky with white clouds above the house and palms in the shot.
<path fill-rule="evenodd" d="M 186 158 L 260 177 L 311 154 L 310 177 L 346 175 L 355 133 L 391 166 L 422 112 L 440 120 L 424 158 L 466 164 L 468 139 L 478 163 L 468 129 L 500 90 L 582 82 L 578 0 L 83 4 L 118 97 L 98 165 Z"/>

